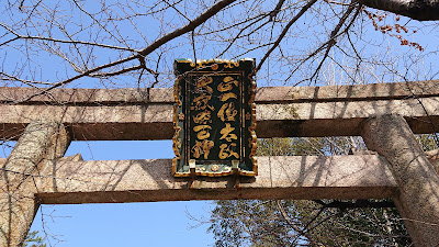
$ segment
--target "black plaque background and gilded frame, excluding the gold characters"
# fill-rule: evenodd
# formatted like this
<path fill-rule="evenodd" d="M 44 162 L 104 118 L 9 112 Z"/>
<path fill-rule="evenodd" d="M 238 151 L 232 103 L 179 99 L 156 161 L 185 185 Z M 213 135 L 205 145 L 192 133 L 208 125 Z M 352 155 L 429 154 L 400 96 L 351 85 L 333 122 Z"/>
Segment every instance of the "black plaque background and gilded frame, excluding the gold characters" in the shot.
<path fill-rule="evenodd" d="M 257 164 L 255 159 L 256 151 L 256 116 L 255 116 L 255 90 L 256 83 L 251 78 L 254 70 L 254 59 L 241 59 L 238 61 L 228 60 L 209 60 L 196 64 L 187 59 L 178 59 L 175 63 L 176 75 L 178 79 L 175 85 L 175 128 L 176 135 L 173 137 L 173 149 L 176 158 L 172 162 L 172 173 L 176 177 L 190 176 L 189 159 L 195 159 L 195 171 L 199 176 L 226 176 L 230 175 L 232 160 L 239 160 L 239 173 L 244 176 L 256 176 Z M 191 148 L 194 146 L 196 133 L 193 127 L 199 125 L 193 122 L 193 116 L 203 110 L 191 109 L 193 99 L 201 93 L 206 93 L 206 89 L 199 89 L 195 87 L 194 81 L 200 77 L 211 77 L 213 82 L 209 85 L 213 93 L 209 104 L 214 108 L 211 114 L 212 122 L 209 125 L 212 127 L 210 132 L 210 141 L 213 141 L 214 147 L 210 149 L 207 159 L 204 156 L 198 158 L 193 157 Z M 235 121 L 223 122 L 217 116 L 219 108 L 225 103 L 219 100 L 222 92 L 217 90 L 218 83 L 225 77 L 233 77 L 239 81 L 238 87 L 233 87 L 232 92 L 238 96 L 238 99 L 230 99 L 227 103 L 234 102 L 235 109 L 238 113 Z M 225 139 L 219 139 L 219 133 L 225 123 L 229 123 L 235 127 L 234 134 L 238 139 L 234 143 L 237 144 L 235 151 L 239 154 L 239 159 L 234 156 L 219 159 L 219 146 L 222 144 L 229 144 Z"/>

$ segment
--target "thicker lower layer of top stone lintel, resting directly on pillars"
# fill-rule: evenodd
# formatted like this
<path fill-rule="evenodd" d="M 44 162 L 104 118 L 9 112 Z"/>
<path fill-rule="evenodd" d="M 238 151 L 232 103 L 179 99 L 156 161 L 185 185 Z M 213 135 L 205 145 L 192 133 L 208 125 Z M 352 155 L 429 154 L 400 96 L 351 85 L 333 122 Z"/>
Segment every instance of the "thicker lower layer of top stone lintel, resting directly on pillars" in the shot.
<path fill-rule="evenodd" d="M 439 97 L 399 100 L 257 104 L 258 137 L 352 136 L 369 117 L 396 113 L 414 133 L 439 132 Z M 15 139 L 36 119 L 64 123 L 77 141 L 170 139 L 172 105 L 0 104 L 0 134 Z"/>

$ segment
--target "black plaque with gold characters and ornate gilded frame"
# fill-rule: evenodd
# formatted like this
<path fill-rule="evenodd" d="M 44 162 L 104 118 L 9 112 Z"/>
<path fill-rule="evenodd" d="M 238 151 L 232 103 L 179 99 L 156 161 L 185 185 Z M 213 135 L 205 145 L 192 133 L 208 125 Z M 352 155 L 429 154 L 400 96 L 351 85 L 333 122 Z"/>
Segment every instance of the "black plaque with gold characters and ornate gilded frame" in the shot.
<path fill-rule="evenodd" d="M 176 60 L 173 176 L 258 173 L 254 68 L 248 58 Z"/>

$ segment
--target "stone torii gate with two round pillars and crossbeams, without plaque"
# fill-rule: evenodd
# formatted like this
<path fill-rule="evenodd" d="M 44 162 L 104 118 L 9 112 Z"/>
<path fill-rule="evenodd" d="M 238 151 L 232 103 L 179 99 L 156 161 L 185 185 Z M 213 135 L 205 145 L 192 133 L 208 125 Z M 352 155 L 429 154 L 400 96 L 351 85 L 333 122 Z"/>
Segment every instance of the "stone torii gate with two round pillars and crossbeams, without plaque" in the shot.
<path fill-rule="evenodd" d="M 171 176 L 171 160 L 63 157 L 70 141 L 170 139 L 171 89 L 0 88 L 18 139 L 0 179 L 0 246 L 20 246 L 41 204 L 392 198 L 416 246 L 439 245 L 439 166 L 413 133 L 439 132 L 436 81 L 257 90 L 258 137 L 361 135 L 379 155 L 258 157 L 259 176 Z M 146 150 L 147 151 L 147 150 Z M 436 169 L 436 170 L 435 170 Z"/>

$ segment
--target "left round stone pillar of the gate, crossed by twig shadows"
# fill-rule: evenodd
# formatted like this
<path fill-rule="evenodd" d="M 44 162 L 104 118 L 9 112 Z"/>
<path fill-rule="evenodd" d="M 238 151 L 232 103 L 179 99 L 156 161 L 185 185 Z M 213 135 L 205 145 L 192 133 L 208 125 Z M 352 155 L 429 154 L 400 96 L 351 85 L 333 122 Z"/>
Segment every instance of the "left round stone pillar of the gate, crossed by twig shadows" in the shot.
<path fill-rule="evenodd" d="M 0 177 L 0 246 L 22 246 L 40 202 L 34 178 L 63 157 L 70 137 L 61 124 L 30 123 L 2 166 Z"/>

